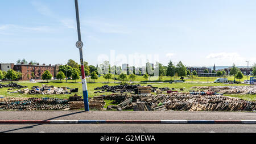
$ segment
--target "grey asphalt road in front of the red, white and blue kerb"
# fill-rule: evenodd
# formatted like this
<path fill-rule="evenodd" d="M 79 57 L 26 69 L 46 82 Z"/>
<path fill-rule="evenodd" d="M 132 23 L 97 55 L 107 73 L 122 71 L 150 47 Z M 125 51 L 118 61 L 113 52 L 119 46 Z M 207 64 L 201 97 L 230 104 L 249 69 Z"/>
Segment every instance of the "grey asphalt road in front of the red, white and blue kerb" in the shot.
<path fill-rule="evenodd" d="M 0 125 L 0 133 L 255 133 L 256 125 L 76 124 Z"/>

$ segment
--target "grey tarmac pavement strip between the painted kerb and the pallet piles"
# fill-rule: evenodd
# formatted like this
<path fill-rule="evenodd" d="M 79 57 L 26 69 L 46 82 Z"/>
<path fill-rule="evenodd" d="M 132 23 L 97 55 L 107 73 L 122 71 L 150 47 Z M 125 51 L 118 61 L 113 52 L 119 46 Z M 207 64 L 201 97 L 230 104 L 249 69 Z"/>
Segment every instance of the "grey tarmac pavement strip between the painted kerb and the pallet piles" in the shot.
<path fill-rule="evenodd" d="M 0 120 L 256 120 L 256 112 L 0 111 Z"/>

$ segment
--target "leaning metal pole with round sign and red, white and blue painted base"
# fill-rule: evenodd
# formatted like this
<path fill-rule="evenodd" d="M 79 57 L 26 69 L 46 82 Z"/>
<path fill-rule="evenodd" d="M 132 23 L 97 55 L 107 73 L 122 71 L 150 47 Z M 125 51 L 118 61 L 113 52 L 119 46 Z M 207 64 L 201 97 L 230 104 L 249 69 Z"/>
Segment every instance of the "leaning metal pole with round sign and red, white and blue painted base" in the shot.
<path fill-rule="evenodd" d="M 80 19 L 79 19 L 79 7 L 78 2 L 75 0 L 76 5 L 76 22 L 77 22 L 77 33 L 79 41 L 77 41 L 76 46 L 80 50 L 80 62 L 81 62 L 81 73 L 82 73 L 82 94 L 84 96 L 84 109 L 86 112 L 89 111 L 89 103 L 88 103 L 88 91 L 87 91 L 87 84 L 85 79 L 84 73 L 84 58 L 82 57 L 82 40 L 81 40 L 81 30 L 80 30 Z"/>

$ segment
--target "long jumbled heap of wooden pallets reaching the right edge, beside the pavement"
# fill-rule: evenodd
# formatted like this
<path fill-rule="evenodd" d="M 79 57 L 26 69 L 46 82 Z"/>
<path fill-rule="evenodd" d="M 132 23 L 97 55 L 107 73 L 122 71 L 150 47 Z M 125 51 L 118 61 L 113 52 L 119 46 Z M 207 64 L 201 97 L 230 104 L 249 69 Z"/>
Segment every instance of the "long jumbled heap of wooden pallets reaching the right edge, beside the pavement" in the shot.
<path fill-rule="evenodd" d="M 223 95 L 175 92 L 158 95 L 129 95 L 118 106 L 134 111 L 254 111 L 256 103 Z"/>

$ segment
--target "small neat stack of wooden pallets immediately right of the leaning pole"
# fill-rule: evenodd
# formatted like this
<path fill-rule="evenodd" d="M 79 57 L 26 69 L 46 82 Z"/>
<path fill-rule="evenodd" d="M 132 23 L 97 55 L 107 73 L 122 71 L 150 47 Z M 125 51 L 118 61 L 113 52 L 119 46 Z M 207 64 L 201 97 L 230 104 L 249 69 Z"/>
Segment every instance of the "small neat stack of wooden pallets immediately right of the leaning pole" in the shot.
<path fill-rule="evenodd" d="M 94 96 L 89 100 L 89 108 L 103 111 L 104 105 L 106 104 L 103 96 Z"/>

